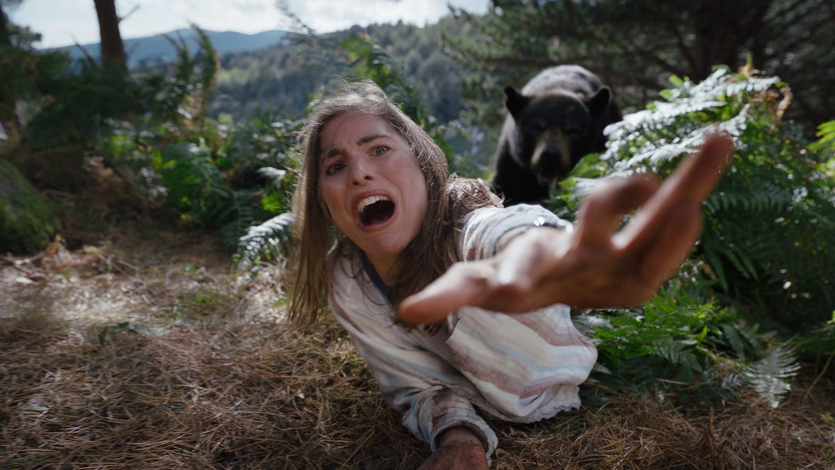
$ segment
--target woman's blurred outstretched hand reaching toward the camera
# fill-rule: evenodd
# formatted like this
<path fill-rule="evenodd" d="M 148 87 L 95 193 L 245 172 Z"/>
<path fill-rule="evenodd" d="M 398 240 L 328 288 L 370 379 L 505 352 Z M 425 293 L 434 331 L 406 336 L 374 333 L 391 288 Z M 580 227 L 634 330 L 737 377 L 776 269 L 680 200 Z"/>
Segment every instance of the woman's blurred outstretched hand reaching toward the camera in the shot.
<path fill-rule="evenodd" d="M 701 203 L 732 151 L 727 136 L 711 135 L 663 183 L 642 174 L 601 187 L 585 197 L 573 230 L 529 230 L 493 258 L 453 264 L 403 299 L 400 319 L 435 323 L 463 305 L 514 313 L 550 304 L 642 304 L 691 252 L 701 229 Z"/>

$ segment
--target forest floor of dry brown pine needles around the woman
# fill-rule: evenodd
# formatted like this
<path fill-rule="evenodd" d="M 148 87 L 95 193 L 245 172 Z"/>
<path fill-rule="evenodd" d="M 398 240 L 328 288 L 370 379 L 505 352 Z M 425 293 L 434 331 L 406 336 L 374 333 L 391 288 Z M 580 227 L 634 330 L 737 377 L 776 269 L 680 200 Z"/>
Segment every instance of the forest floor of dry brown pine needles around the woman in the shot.
<path fill-rule="evenodd" d="M 134 224 L 0 257 L 0 468 L 415 468 L 428 447 L 331 319 L 283 323 L 276 266 L 233 273 L 201 233 Z M 494 422 L 493 468 L 835 468 L 835 383 Z"/>

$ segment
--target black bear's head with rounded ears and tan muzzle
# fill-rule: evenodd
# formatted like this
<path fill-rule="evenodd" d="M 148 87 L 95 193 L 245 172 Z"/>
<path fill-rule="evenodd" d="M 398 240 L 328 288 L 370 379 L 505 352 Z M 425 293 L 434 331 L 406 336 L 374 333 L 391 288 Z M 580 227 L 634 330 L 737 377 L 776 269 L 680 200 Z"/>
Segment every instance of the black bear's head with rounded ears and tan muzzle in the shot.
<path fill-rule="evenodd" d="M 529 96 L 509 86 L 504 95 L 504 105 L 515 121 L 511 154 L 541 184 L 563 179 L 583 156 L 605 150 L 608 87 L 588 96 L 561 92 Z"/>

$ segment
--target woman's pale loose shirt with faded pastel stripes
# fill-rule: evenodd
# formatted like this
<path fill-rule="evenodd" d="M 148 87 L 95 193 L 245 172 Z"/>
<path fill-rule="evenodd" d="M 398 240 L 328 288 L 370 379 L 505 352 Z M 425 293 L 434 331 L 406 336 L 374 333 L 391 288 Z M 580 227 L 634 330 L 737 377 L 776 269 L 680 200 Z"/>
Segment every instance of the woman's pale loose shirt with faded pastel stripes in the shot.
<path fill-rule="evenodd" d="M 502 237 L 535 218 L 568 225 L 539 206 L 482 207 L 465 215 L 457 236 L 461 259 L 488 258 Z M 579 407 L 579 384 L 597 350 L 555 304 L 525 314 L 464 307 L 429 334 L 393 322 L 395 311 L 376 287 L 357 248 L 331 252 L 331 311 L 367 361 L 385 401 L 412 434 L 428 442 L 448 427 L 477 433 L 488 457 L 498 444 L 476 409 L 498 419 L 533 422 Z"/>

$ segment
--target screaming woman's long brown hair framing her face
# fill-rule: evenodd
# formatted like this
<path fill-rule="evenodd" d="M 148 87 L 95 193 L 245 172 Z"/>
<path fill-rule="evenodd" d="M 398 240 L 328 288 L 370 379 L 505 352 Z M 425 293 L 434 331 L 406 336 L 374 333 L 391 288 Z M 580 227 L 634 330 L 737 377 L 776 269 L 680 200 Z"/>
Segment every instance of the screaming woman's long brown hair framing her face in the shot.
<path fill-rule="evenodd" d="M 438 144 L 423 128 L 389 100 L 377 84 L 363 81 L 349 84 L 341 95 L 321 100 L 311 112 L 300 140 L 303 158 L 293 196 L 295 266 L 287 278 L 292 285 L 290 319 L 294 324 L 310 324 L 327 304 L 330 278 L 327 253 L 336 232 L 321 199 L 321 131 L 337 115 L 360 112 L 386 120 L 411 147 L 427 187 L 424 223 L 408 243 L 394 266 L 395 284 L 388 286 L 395 302 L 414 294 L 438 278 L 458 261 L 455 246 L 456 219 L 476 207 L 493 204 L 488 186 L 481 180 L 448 176 L 447 159 Z M 337 249 L 344 253 L 352 242 L 337 235 Z M 403 269 L 408 267 L 408 269 Z"/>

